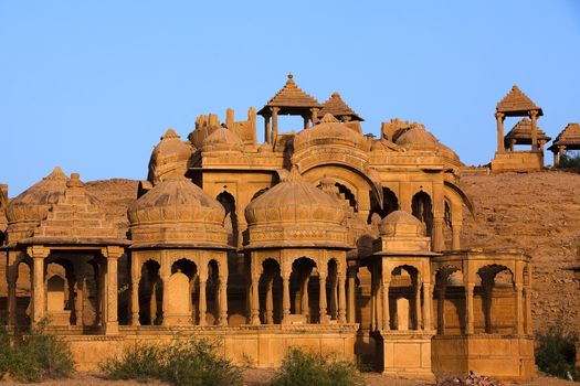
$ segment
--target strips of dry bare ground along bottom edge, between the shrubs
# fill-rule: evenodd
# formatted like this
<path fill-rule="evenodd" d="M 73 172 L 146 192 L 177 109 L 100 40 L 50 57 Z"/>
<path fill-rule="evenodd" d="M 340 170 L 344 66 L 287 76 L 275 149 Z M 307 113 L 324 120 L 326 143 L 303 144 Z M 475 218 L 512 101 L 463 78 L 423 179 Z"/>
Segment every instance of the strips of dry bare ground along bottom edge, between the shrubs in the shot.
<path fill-rule="evenodd" d="M 274 376 L 275 372 L 272 369 L 257 369 L 257 368 L 247 368 L 244 369 L 243 373 L 243 380 L 244 385 L 246 386 L 266 386 Z M 428 386 L 433 385 L 432 383 L 425 383 L 421 380 L 410 380 L 410 379 L 400 379 L 400 378 L 393 378 L 393 377 L 387 377 L 382 376 L 380 374 L 362 374 L 362 377 L 365 379 L 365 384 L 368 386 Z M 15 386 L 15 385 L 25 385 L 25 384 L 18 384 L 18 383 L 2 383 L 2 385 L 7 386 Z M 71 379 L 61 379 L 61 380 L 51 380 L 51 382 L 43 382 L 36 385 L 43 385 L 43 386 L 91 386 L 91 385 L 116 385 L 116 386 L 137 386 L 137 385 L 147 385 L 147 386 L 157 386 L 157 385 L 167 385 L 165 383 L 160 382 L 148 382 L 148 383 L 137 383 L 135 380 L 116 380 L 112 382 L 108 379 L 104 379 L 95 374 L 88 374 L 88 373 L 77 373 L 74 375 Z M 510 384 L 505 384 L 510 385 Z M 545 375 L 538 376 L 536 379 L 529 383 L 521 383 L 521 384 L 515 384 L 515 385 L 521 385 L 521 386 L 572 386 L 578 385 L 574 382 L 570 380 L 563 380 L 558 379 L 553 377 L 547 377 Z M 315 386 L 315 385 L 307 385 L 307 386 Z"/>

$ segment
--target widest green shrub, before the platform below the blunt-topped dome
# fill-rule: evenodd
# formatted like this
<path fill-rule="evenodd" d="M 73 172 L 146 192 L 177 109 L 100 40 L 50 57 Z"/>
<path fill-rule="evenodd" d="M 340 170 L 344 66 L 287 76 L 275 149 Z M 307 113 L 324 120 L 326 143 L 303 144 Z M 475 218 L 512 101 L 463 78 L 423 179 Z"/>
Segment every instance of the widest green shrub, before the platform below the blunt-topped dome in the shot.
<path fill-rule="evenodd" d="M 173 385 L 236 385 L 240 371 L 218 355 L 207 340 L 176 340 L 169 344 L 136 344 L 120 357 L 105 361 L 101 371 L 112 379 L 160 379 Z"/>

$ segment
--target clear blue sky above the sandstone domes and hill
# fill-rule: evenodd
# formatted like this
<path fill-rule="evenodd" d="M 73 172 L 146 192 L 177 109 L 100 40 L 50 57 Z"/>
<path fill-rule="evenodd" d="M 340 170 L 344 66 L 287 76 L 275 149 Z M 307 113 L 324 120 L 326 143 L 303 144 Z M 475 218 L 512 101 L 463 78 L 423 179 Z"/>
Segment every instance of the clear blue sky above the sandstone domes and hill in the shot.
<path fill-rule="evenodd" d="M 580 120 L 580 2 L 0 0 L 0 182 L 145 179 L 168 127 L 242 119 L 288 72 L 319 101 L 339 92 L 365 132 L 416 120 L 484 164 L 513 84 L 549 136 Z"/>

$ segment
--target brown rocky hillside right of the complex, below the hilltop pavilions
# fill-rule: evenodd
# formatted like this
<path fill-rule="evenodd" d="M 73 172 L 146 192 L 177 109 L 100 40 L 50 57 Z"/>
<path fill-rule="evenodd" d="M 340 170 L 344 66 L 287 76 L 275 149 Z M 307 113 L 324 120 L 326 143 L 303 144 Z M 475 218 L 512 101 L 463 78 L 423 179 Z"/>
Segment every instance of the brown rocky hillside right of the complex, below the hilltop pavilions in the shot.
<path fill-rule="evenodd" d="M 521 248 L 532 258 L 536 331 L 563 323 L 576 329 L 580 289 L 567 267 L 580 242 L 580 174 L 463 175 L 461 186 L 475 204 L 465 216 L 464 247 Z"/>

